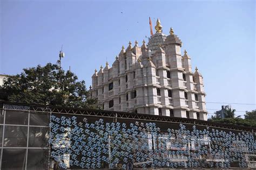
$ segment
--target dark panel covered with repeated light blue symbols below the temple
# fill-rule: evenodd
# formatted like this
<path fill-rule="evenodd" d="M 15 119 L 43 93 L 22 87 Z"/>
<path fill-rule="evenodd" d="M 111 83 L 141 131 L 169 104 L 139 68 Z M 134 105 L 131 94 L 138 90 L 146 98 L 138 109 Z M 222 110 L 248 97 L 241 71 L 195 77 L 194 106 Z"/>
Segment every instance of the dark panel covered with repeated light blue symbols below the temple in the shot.
<path fill-rule="evenodd" d="M 79 122 L 51 116 L 50 157 L 63 168 L 247 167 L 255 151 L 252 133 L 217 129 L 167 129 L 155 123 Z"/>

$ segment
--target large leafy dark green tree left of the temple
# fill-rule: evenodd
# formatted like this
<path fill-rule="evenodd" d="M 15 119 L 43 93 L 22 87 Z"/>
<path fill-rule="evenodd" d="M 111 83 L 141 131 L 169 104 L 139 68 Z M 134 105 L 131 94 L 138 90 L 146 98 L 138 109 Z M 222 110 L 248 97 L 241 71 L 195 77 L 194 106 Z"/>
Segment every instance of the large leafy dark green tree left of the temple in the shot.
<path fill-rule="evenodd" d="M 51 63 L 8 76 L 0 90 L 4 94 L 0 99 L 10 102 L 97 108 L 97 100 L 89 97 L 85 81 L 78 81 L 74 73 Z"/>

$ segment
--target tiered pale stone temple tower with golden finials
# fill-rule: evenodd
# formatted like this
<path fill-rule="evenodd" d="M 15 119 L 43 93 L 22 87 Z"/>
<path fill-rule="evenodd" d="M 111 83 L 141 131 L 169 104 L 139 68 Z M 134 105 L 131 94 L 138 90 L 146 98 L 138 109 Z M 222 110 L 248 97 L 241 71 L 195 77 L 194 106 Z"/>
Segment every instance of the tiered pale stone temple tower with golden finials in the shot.
<path fill-rule="evenodd" d="M 95 69 L 92 97 L 104 110 L 207 120 L 203 76 L 172 29 L 166 36 L 159 19 L 155 29 L 147 45 L 129 42 L 112 67 Z"/>

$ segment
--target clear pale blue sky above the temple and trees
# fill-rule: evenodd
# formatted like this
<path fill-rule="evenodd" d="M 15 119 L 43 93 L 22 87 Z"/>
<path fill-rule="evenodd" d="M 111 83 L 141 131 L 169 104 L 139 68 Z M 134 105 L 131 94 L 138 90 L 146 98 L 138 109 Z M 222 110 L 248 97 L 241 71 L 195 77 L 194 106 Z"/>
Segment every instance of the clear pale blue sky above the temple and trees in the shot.
<path fill-rule="evenodd" d="M 122 45 L 142 45 L 160 18 L 204 76 L 206 102 L 255 103 L 255 1 L 0 1 L 0 74 L 55 63 L 91 84 Z M 147 40 L 146 40 L 147 41 Z M 207 103 L 210 115 L 219 103 Z M 232 104 L 237 111 L 256 105 Z M 244 112 L 237 112 L 244 115 Z"/>

